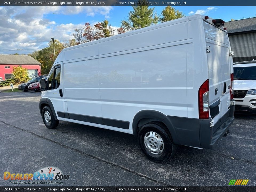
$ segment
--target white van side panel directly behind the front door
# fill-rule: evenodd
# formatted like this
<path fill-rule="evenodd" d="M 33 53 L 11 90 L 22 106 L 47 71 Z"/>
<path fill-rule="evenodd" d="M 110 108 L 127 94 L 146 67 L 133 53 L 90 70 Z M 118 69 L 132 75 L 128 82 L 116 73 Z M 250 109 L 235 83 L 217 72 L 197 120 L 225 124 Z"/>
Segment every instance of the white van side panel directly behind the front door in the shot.
<path fill-rule="evenodd" d="M 97 123 L 102 118 L 98 66 L 97 58 L 64 63 L 66 112 L 70 119 Z"/>

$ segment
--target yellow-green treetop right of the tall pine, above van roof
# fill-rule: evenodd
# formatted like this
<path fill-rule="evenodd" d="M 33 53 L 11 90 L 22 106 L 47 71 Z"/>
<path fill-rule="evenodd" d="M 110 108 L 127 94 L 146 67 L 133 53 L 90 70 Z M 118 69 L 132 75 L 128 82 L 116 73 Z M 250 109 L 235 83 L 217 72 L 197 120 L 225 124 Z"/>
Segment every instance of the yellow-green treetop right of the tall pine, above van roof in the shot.
<path fill-rule="evenodd" d="M 171 21 L 173 19 L 178 19 L 185 16 L 182 13 L 182 11 L 175 10 L 175 8 L 172 6 L 166 6 L 162 10 L 161 14 L 162 14 L 162 17 L 159 19 L 160 22 Z"/>

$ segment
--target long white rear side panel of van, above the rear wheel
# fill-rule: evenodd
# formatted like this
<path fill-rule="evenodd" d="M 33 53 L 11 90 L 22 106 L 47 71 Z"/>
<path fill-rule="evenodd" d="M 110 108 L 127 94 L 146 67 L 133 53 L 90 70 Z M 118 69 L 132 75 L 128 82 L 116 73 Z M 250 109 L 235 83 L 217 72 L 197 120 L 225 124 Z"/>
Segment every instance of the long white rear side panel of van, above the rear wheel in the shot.
<path fill-rule="evenodd" d="M 179 30 L 177 40 L 175 34 L 181 28 L 184 30 Z M 121 50 L 128 45 L 130 49 L 133 49 L 131 45 L 137 48 L 99 55 L 103 118 L 128 121 L 132 131 L 133 118 L 141 110 L 187 117 L 186 29 L 187 22 L 183 22 L 115 39 L 115 47 L 108 49 L 106 42 L 100 43 L 102 54 L 116 51 L 116 46 L 121 44 Z M 145 37 L 154 38 L 146 41 Z M 136 43 L 131 44 L 133 41 Z M 155 46 L 148 46 L 149 42 Z"/>

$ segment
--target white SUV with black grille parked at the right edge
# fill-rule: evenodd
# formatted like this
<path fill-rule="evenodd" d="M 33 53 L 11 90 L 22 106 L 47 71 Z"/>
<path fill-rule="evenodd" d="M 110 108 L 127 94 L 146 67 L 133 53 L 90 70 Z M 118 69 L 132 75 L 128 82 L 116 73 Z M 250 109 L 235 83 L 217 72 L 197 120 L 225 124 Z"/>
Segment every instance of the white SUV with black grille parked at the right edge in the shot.
<path fill-rule="evenodd" d="M 256 114 L 256 61 L 234 63 L 236 112 Z"/>

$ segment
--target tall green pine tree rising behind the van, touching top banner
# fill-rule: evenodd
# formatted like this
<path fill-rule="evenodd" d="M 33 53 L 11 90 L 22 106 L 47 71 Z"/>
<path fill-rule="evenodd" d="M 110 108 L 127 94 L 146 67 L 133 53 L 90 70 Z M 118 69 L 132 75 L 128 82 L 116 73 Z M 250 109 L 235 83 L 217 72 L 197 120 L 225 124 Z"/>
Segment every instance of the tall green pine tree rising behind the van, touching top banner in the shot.
<path fill-rule="evenodd" d="M 146 0 L 139 0 L 139 5 L 133 5 L 134 10 L 129 12 L 129 19 L 133 23 L 134 29 L 140 29 L 157 23 L 158 16 L 154 15 L 154 7 L 149 8 L 146 2 Z"/>

